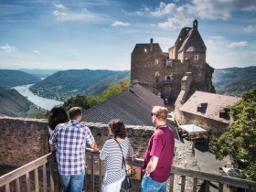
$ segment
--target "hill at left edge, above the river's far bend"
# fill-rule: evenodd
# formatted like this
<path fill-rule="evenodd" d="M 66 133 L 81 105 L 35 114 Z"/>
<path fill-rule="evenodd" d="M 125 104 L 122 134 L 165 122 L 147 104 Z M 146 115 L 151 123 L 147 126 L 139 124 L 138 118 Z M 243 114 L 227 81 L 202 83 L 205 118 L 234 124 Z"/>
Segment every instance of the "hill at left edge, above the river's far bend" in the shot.
<path fill-rule="evenodd" d="M 24 71 L 0 69 L 0 86 L 4 88 L 25 84 L 34 84 L 38 81 L 40 81 L 39 78 Z"/>

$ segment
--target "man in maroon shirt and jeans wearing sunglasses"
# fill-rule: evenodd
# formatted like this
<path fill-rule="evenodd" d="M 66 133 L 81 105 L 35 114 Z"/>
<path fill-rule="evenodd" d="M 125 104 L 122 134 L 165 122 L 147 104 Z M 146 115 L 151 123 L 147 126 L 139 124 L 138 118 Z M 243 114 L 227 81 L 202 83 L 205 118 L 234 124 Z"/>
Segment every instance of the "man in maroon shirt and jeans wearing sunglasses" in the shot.
<path fill-rule="evenodd" d="M 155 106 L 151 115 L 156 129 L 144 155 L 142 191 L 164 192 L 173 163 L 174 133 L 166 125 L 168 110 L 165 107 Z"/>

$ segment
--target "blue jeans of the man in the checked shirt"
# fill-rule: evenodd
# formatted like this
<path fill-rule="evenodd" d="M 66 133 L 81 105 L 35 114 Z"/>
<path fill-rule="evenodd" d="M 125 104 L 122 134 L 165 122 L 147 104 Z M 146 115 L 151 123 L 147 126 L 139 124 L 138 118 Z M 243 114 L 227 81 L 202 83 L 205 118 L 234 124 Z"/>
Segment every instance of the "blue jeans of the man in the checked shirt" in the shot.
<path fill-rule="evenodd" d="M 85 168 L 79 175 L 64 176 L 60 174 L 62 192 L 81 192 L 85 176 Z"/>

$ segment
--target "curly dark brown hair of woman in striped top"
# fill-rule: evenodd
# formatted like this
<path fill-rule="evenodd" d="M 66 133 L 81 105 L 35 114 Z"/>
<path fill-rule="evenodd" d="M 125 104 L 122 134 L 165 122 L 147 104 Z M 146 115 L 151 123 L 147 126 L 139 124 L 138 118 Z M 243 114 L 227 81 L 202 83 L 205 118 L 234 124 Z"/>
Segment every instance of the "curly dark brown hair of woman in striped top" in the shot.
<path fill-rule="evenodd" d="M 121 120 L 111 120 L 109 123 L 109 127 L 112 131 L 113 137 L 117 136 L 124 139 L 126 137 L 126 129 L 123 121 Z"/>

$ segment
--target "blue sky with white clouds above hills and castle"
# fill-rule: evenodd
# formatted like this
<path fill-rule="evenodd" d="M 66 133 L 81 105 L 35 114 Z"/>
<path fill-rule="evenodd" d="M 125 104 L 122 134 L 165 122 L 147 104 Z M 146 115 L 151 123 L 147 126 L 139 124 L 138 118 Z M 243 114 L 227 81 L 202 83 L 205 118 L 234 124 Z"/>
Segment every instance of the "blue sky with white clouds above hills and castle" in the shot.
<path fill-rule="evenodd" d="M 255 0 L 0 0 L 0 69 L 131 69 L 195 19 L 211 67 L 256 66 Z"/>

